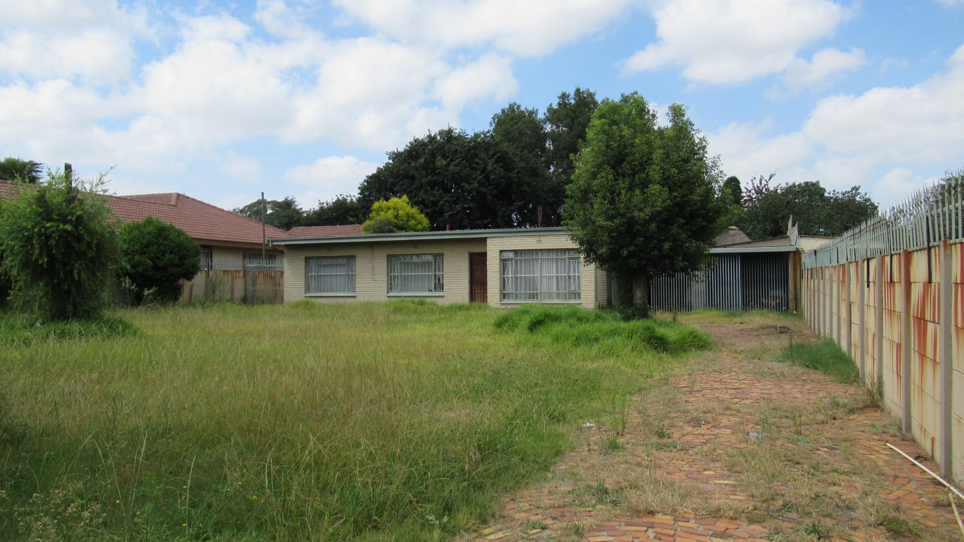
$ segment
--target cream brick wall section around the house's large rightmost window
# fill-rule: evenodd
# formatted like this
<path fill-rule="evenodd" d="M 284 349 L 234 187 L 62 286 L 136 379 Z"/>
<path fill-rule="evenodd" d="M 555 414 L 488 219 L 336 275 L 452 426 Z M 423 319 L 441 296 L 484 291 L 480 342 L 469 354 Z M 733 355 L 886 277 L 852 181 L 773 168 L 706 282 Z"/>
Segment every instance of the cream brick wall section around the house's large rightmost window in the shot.
<path fill-rule="evenodd" d="M 499 251 L 575 249 L 576 243 L 565 233 L 542 235 L 511 235 L 489 237 L 486 244 L 486 259 L 489 270 L 489 305 L 493 307 L 518 307 L 520 303 L 501 302 L 501 263 Z M 597 309 L 606 304 L 605 272 L 591 263 L 582 265 L 582 295 L 578 305 L 586 309 Z M 602 284 L 602 289 L 601 289 Z M 574 303 L 575 305 L 575 303 Z"/>

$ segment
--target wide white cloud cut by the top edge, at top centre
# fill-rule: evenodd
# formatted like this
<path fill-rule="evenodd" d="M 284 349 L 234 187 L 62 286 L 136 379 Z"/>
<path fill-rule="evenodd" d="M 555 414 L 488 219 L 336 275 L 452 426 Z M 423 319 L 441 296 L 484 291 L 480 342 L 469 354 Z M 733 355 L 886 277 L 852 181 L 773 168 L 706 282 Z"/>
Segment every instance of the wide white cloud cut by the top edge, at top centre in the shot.
<path fill-rule="evenodd" d="M 457 48 L 493 45 L 520 56 L 549 53 L 621 14 L 629 0 L 335 0 L 347 14 L 393 39 Z"/>

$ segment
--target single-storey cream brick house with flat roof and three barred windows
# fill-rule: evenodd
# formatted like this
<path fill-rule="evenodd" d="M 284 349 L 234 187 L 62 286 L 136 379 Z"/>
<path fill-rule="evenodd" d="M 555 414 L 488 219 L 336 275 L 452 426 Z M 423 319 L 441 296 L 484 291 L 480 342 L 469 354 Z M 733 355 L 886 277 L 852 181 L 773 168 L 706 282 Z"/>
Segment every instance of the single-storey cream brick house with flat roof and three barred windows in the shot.
<path fill-rule="evenodd" d="M 561 228 L 279 237 L 284 301 L 429 299 L 438 303 L 572 304 L 607 299 L 606 274 Z"/>

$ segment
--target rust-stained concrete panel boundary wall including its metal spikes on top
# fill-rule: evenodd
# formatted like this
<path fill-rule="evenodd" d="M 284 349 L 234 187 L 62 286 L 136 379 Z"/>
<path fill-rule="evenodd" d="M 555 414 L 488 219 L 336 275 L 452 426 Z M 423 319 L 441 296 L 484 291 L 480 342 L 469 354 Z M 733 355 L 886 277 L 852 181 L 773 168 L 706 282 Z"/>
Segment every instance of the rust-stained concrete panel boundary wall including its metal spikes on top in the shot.
<path fill-rule="evenodd" d="M 964 176 L 922 190 L 804 255 L 807 322 L 964 480 Z"/>

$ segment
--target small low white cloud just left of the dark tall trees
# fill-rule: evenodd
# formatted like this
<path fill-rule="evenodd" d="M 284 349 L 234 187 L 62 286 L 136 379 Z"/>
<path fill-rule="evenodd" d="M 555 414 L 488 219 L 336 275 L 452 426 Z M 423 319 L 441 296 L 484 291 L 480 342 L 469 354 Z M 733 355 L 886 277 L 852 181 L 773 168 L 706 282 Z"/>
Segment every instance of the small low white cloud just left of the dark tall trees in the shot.
<path fill-rule="evenodd" d="M 357 194 L 364 177 L 376 169 L 378 164 L 365 162 L 355 156 L 326 156 L 314 163 L 288 169 L 284 172 L 284 178 L 313 187 L 298 200 L 305 204 L 310 200 L 313 204 L 316 200 L 328 200 L 338 194 Z"/>

